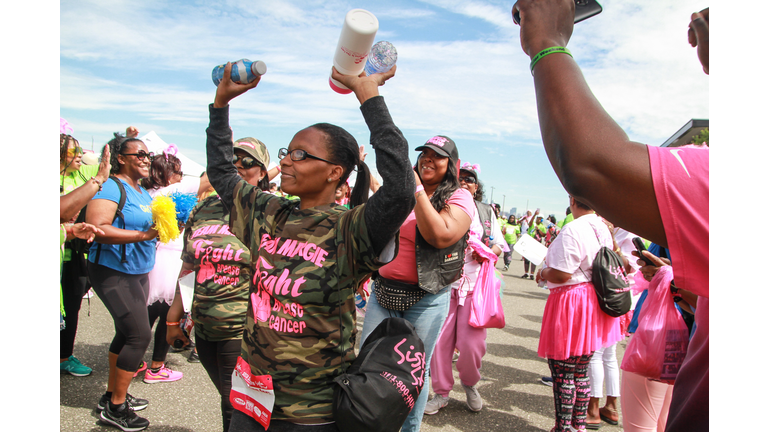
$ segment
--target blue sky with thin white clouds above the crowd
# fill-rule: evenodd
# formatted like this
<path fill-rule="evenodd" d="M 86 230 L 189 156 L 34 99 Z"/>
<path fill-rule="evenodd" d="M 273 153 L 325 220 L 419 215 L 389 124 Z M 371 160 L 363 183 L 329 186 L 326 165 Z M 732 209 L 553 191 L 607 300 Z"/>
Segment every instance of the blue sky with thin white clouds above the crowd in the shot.
<path fill-rule="evenodd" d="M 659 145 L 691 118 L 709 118 L 708 77 L 686 39 L 691 12 L 706 4 L 600 3 L 603 12 L 577 24 L 568 47 L 630 138 Z M 344 16 L 363 8 L 379 20 L 376 40 L 397 47 L 397 75 L 381 94 L 410 148 L 450 136 L 462 161 L 480 164 L 487 197 L 505 210 L 540 207 L 561 219 L 567 193 L 541 144 L 513 4 L 62 1 L 60 116 L 85 148 L 133 125 L 205 165 L 211 70 L 249 58 L 266 62 L 268 72 L 231 104 L 236 138 L 261 139 L 276 159 L 298 130 L 322 121 L 370 150 L 357 100 L 327 83 Z M 375 169 L 374 160 L 371 151 Z"/>

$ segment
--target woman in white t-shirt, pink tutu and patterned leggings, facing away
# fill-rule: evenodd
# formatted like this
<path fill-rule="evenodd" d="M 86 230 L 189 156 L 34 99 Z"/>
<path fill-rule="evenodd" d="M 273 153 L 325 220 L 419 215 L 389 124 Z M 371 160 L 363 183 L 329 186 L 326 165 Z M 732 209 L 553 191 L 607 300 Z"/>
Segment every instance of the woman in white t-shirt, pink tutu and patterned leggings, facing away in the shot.
<path fill-rule="evenodd" d="M 592 354 L 621 340 L 618 318 L 600 309 L 592 285 L 592 261 L 602 246 L 614 248 L 608 227 L 595 211 L 570 199 L 573 222 L 547 249 L 536 281 L 550 290 L 539 337 L 539 357 L 552 372 L 555 432 L 586 430 Z"/>

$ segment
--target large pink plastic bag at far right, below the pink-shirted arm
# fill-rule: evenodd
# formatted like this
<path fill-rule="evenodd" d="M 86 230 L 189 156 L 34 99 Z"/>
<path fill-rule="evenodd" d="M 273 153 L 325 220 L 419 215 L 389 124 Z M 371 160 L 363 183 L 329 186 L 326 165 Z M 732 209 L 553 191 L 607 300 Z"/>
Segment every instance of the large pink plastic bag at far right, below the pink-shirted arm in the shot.
<path fill-rule="evenodd" d="M 674 384 L 688 351 L 688 327 L 669 291 L 672 267 L 659 269 L 648 286 L 637 330 L 627 345 L 621 368 Z"/>

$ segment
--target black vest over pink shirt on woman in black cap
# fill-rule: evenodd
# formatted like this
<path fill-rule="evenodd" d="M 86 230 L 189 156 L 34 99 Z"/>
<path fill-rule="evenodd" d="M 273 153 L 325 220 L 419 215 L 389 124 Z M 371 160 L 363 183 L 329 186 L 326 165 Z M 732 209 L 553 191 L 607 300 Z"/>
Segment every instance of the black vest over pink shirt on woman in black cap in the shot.
<path fill-rule="evenodd" d="M 464 250 L 467 248 L 464 234 L 456 243 L 438 249 L 424 240 L 416 226 L 416 272 L 419 288 L 437 294 L 441 288 L 459 280 L 464 272 Z"/>

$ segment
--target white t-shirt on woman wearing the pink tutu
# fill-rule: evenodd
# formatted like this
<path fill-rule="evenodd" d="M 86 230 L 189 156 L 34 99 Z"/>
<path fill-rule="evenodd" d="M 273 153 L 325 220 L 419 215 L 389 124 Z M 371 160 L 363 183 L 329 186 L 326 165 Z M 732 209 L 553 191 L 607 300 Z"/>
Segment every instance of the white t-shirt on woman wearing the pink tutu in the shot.
<path fill-rule="evenodd" d="M 597 232 L 597 235 L 595 235 Z M 598 237 L 600 241 L 598 243 Z M 565 283 L 547 282 L 549 289 L 592 280 L 592 262 L 602 246 L 613 248 L 608 227 L 596 214 L 587 214 L 565 225 L 547 249 L 546 266 L 572 276 Z"/>

